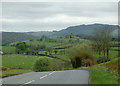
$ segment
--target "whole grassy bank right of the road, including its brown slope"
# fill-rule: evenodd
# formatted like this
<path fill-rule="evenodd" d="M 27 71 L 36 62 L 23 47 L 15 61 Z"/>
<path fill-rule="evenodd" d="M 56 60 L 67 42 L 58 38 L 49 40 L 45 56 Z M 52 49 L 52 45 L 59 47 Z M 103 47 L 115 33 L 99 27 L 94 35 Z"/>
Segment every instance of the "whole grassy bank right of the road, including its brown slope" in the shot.
<path fill-rule="evenodd" d="M 98 64 L 90 68 L 79 68 L 90 72 L 90 84 L 118 84 L 119 58 L 112 58 L 111 61 Z"/>

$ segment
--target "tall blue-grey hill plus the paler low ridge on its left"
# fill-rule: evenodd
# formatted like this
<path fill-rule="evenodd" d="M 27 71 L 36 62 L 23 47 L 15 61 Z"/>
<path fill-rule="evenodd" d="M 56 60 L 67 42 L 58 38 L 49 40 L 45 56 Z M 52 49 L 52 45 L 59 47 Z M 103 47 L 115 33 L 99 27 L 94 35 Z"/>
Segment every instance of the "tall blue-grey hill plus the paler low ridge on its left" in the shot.
<path fill-rule="evenodd" d="M 61 37 L 66 35 L 84 35 L 84 36 L 93 36 L 96 32 L 108 28 L 113 32 L 114 30 L 118 29 L 118 25 L 108 25 L 108 24 L 90 24 L 90 25 L 78 25 L 78 26 L 70 26 L 66 29 L 60 31 L 40 31 L 40 32 L 29 32 L 27 34 L 41 37 L 42 35 L 48 37 Z M 114 37 L 117 37 L 116 31 L 112 33 Z"/>

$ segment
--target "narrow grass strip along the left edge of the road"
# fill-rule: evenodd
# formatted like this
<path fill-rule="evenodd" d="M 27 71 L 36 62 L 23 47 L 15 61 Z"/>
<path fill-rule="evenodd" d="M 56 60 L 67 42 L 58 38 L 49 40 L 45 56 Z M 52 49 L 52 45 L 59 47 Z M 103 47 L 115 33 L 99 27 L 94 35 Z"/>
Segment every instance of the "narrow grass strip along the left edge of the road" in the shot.
<path fill-rule="evenodd" d="M 23 69 L 12 69 L 7 71 L 2 71 L 2 78 L 13 76 L 13 75 L 19 75 L 23 73 L 32 72 L 31 70 L 23 70 Z M 0 76 L 1 77 L 1 76 Z"/>

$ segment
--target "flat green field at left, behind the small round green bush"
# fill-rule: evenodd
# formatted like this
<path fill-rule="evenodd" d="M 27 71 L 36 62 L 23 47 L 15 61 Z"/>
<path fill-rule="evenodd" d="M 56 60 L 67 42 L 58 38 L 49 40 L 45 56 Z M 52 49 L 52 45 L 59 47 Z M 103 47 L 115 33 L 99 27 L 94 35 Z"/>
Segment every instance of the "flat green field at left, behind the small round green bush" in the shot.
<path fill-rule="evenodd" d="M 46 56 L 32 56 L 32 55 L 3 55 L 2 56 L 2 66 L 11 69 L 31 69 L 33 68 L 34 62 L 38 58 L 49 58 L 51 61 L 51 66 L 59 64 L 61 61 L 58 59 L 46 57 Z"/>

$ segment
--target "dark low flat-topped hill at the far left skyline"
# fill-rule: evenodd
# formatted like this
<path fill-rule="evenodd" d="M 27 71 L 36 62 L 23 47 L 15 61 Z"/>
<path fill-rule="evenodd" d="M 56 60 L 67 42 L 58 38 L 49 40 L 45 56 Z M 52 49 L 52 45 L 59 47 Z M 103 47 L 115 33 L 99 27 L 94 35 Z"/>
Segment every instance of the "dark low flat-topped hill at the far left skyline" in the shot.
<path fill-rule="evenodd" d="M 2 32 L 2 44 L 36 39 L 37 37 L 19 32 Z"/>

